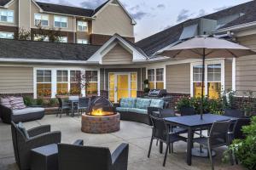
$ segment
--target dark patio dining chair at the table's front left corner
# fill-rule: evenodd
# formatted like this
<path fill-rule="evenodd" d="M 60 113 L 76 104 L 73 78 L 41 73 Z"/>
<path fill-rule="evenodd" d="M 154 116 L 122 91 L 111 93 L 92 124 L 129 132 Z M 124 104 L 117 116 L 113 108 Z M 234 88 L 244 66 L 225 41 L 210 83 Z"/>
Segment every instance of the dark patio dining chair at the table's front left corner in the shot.
<path fill-rule="evenodd" d="M 164 162 L 163 162 L 163 167 L 165 167 L 167 152 L 168 152 L 169 148 L 172 147 L 172 144 L 177 141 L 180 141 L 180 140 L 185 141 L 186 139 L 177 135 L 176 133 L 170 132 L 170 128 L 167 127 L 166 121 L 164 119 L 155 117 L 155 116 L 151 116 L 151 115 L 150 115 L 150 119 L 153 124 L 153 128 L 152 128 L 152 136 L 151 136 L 150 144 L 149 144 L 148 158 L 151 153 L 151 148 L 152 148 L 154 139 L 157 139 L 160 142 L 165 143 L 166 144 L 166 152 L 165 152 L 165 158 L 164 158 Z"/>

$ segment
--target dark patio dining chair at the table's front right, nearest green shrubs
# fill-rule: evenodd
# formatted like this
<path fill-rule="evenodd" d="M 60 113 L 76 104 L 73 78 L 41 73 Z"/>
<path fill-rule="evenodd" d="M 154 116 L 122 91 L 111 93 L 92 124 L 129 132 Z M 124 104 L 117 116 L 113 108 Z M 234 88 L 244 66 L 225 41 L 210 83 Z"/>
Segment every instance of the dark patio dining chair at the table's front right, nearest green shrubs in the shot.
<path fill-rule="evenodd" d="M 214 165 L 212 161 L 212 149 L 221 147 L 221 146 L 230 145 L 230 139 L 229 139 L 230 124 L 231 124 L 231 121 L 214 122 L 212 124 L 209 135 L 206 136 L 204 134 L 199 134 L 201 135 L 201 137 L 194 139 L 195 143 L 198 143 L 207 147 L 212 170 L 214 170 Z M 229 150 L 229 153 L 230 153 L 230 161 L 231 161 L 231 164 L 233 165 L 233 158 L 230 150 Z"/>

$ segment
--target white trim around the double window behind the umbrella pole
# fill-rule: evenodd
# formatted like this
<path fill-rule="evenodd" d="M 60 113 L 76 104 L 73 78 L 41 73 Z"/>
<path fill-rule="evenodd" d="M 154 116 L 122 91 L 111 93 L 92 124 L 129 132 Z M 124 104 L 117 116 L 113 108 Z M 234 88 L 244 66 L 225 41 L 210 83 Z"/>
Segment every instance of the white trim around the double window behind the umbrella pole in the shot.
<path fill-rule="evenodd" d="M 221 65 L 221 92 L 223 93 L 223 91 L 225 90 L 225 68 L 224 68 L 224 59 L 219 59 L 219 60 L 210 60 L 210 61 L 206 61 L 206 69 L 205 69 L 205 95 L 207 96 L 208 94 L 208 75 L 207 75 L 207 65 L 214 65 L 214 64 L 220 64 Z M 193 67 L 195 65 L 202 65 L 202 62 L 195 62 L 195 63 L 190 63 L 190 96 L 193 97 L 194 96 L 194 84 L 193 84 Z"/>

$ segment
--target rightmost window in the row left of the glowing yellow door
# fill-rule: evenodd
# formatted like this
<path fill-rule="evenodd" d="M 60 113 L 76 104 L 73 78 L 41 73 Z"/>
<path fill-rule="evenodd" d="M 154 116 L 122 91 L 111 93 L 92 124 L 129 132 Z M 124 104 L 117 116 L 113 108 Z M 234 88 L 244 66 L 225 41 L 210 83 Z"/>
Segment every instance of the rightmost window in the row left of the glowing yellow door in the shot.
<path fill-rule="evenodd" d="M 98 71 L 85 71 L 85 76 L 88 80 L 86 94 L 98 94 Z"/>

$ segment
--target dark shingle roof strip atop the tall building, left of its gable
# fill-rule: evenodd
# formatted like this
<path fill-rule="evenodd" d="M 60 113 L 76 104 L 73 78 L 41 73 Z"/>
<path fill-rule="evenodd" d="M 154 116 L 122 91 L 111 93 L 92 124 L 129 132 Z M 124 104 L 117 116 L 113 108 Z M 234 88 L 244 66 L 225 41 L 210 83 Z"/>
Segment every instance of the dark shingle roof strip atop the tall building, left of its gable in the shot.
<path fill-rule="evenodd" d="M 72 14 L 72 15 L 79 15 L 79 16 L 87 16 L 90 17 L 94 13 L 93 9 L 89 8 L 78 8 L 78 7 L 69 7 L 59 4 L 52 4 L 52 3 L 40 3 L 37 2 L 40 8 L 44 11 L 52 12 L 52 13 L 60 13 L 60 14 Z"/>

